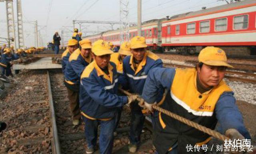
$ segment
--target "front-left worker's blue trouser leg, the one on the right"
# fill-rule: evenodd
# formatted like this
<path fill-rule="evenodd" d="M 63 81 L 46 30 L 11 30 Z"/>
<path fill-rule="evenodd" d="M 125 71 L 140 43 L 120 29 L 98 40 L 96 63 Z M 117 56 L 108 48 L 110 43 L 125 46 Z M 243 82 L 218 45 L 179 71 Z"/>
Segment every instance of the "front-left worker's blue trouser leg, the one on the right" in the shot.
<path fill-rule="evenodd" d="M 100 154 L 111 154 L 114 144 L 116 116 L 108 121 L 100 121 Z"/>

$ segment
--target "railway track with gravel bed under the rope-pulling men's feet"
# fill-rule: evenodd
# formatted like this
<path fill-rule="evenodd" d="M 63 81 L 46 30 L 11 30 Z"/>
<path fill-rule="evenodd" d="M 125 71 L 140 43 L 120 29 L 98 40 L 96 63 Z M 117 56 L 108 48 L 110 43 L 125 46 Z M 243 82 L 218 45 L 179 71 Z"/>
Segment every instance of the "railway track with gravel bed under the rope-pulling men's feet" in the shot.
<path fill-rule="evenodd" d="M 72 125 L 72 118 L 68 104 L 66 87 L 63 84 L 61 71 L 48 73 L 48 95 L 52 115 L 52 153 L 53 154 L 84 154 L 86 141 L 84 138 L 84 122 L 79 126 Z M 52 98 L 51 98 L 52 97 Z M 52 102 L 52 103 L 51 103 Z M 53 113 L 55 112 L 55 113 Z M 56 119 L 56 122 L 54 122 Z M 147 118 L 150 120 L 149 118 Z M 119 126 L 118 135 L 114 140 L 113 154 L 128 154 L 128 132 L 130 131 L 130 113 L 127 106 L 124 107 Z M 153 153 L 152 150 L 152 126 L 146 122 L 144 132 L 141 136 L 142 144 L 139 152 Z M 96 147 L 95 154 L 99 154 Z"/>

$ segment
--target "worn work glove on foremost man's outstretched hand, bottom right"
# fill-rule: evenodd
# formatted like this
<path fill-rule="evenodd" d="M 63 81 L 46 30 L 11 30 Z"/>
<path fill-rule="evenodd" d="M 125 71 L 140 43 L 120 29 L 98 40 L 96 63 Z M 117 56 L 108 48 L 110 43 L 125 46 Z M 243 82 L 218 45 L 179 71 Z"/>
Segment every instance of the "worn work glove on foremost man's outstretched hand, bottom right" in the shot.
<path fill-rule="evenodd" d="M 240 132 L 238 132 L 236 129 L 234 128 L 230 128 L 228 130 L 226 130 L 225 132 L 225 135 L 228 136 L 230 138 L 230 140 L 234 141 L 235 139 L 236 140 L 244 140 L 244 136 L 242 136 L 242 134 L 240 134 Z M 245 149 L 244 149 L 245 150 Z M 246 151 L 246 150 L 245 150 Z M 231 149 L 229 150 L 229 153 L 230 154 L 244 154 L 245 152 L 244 151 L 232 151 Z"/>

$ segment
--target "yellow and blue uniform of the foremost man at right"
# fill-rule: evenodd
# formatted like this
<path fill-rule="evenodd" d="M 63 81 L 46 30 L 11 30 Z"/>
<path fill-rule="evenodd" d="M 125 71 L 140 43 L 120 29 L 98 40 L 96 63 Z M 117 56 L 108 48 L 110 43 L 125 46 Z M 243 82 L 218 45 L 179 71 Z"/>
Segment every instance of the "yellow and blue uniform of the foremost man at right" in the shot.
<path fill-rule="evenodd" d="M 236 106 L 234 93 L 222 80 L 218 86 L 200 93 L 197 90 L 197 71 L 190 69 L 154 68 L 148 73 L 142 98 L 149 104 L 158 102 L 169 110 L 198 124 L 214 129 L 217 122 L 222 133 L 237 129 L 245 138 L 250 134 Z M 158 101 L 159 90 L 165 91 Z M 187 145 L 206 144 L 211 137 L 196 128 L 155 111 L 153 144 L 158 154 L 184 154 Z M 202 151 L 201 151 L 202 152 Z"/>

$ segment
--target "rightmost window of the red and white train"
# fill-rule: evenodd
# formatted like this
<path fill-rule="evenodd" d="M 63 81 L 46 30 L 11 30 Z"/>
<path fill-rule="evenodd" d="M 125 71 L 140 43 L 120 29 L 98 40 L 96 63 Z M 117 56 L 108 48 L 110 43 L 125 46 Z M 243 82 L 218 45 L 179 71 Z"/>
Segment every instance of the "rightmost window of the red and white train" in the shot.
<path fill-rule="evenodd" d="M 248 15 L 235 16 L 233 29 L 234 30 L 242 30 L 248 28 Z"/>

